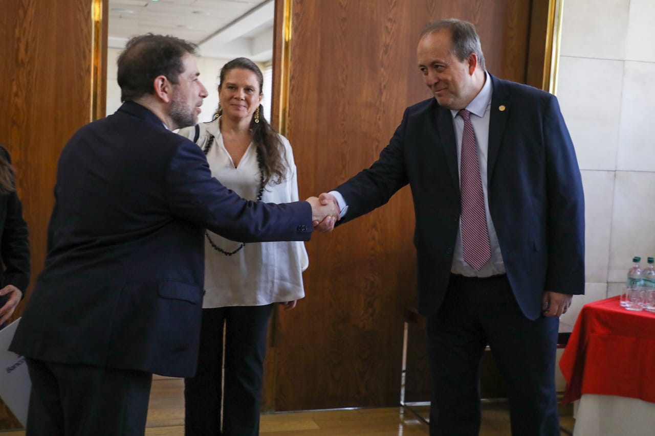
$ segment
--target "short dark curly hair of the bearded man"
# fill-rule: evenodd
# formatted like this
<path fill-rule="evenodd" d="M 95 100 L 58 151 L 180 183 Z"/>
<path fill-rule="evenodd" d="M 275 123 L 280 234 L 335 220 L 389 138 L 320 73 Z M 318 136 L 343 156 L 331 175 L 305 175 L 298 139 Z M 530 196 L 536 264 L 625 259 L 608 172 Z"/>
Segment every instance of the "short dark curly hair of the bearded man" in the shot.
<path fill-rule="evenodd" d="M 164 75 L 172 84 L 184 72 L 182 58 L 196 54 L 197 46 L 170 35 L 146 33 L 133 37 L 117 60 L 121 101 L 134 101 L 154 92 L 155 77 Z"/>

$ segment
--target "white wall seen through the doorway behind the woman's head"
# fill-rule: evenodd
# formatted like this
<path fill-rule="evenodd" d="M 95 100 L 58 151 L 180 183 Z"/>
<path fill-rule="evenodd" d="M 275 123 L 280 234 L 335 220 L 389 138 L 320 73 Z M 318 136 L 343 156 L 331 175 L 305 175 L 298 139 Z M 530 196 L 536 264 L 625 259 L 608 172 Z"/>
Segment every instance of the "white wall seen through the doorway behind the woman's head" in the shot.
<path fill-rule="evenodd" d="M 117 67 L 116 60 L 121 54 L 122 49 L 118 48 L 109 48 L 107 50 L 107 115 L 111 115 L 121 106 L 121 88 L 116 79 Z M 221 67 L 225 65 L 229 59 L 216 59 L 216 58 L 203 58 L 198 57 L 198 69 L 200 70 L 200 81 L 207 88 L 209 96 L 204 99 L 202 103 L 202 111 L 198 120 L 210 121 L 214 117 L 214 112 L 218 107 L 218 75 Z M 257 64 L 262 72 L 264 72 L 264 66 Z M 271 98 L 267 96 L 267 90 L 264 90 L 264 100 L 262 104 L 265 107 L 265 113 L 268 111 L 270 113 L 270 101 Z M 270 116 L 268 118 L 270 120 Z"/>

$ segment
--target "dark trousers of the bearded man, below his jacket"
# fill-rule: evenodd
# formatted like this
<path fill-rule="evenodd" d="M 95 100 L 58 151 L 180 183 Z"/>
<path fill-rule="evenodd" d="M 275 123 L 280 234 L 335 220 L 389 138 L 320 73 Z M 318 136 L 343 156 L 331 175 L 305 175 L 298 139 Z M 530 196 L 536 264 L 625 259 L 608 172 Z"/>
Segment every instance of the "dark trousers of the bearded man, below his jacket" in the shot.
<path fill-rule="evenodd" d="M 26 436 L 145 433 L 153 374 L 26 361 L 32 383 Z"/>

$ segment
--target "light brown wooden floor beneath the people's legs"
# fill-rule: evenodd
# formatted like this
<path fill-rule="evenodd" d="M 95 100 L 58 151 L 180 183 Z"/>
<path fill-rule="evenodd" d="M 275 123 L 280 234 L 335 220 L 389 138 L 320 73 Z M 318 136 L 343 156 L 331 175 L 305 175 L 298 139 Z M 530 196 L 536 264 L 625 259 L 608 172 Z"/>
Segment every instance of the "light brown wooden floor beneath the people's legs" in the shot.
<path fill-rule="evenodd" d="M 150 397 L 148 436 L 184 434 L 183 382 L 179 379 L 155 378 Z M 426 416 L 427 407 L 414 407 Z M 564 412 L 566 414 L 566 412 Z M 561 418 L 562 435 L 570 435 L 574 420 Z M 427 435 L 428 426 L 417 414 L 402 407 L 380 409 L 321 410 L 282 412 L 261 416 L 261 434 L 266 436 L 414 436 Z M 24 431 L 1 432 L 1 436 L 24 436 Z M 485 403 L 481 436 L 510 435 L 509 414 L 504 403 Z"/>

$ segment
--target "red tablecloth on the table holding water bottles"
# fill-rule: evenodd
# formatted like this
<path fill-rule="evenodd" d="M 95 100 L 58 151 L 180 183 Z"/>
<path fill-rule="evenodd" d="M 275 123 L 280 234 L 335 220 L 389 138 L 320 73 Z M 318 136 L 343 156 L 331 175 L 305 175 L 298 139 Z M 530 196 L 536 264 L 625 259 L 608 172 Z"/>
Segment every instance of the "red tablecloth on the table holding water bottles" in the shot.
<path fill-rule="evenodd" d="M 565 404 L 583 393 L 655 403 L 655 314 L 626 310 L 619 297 L 586 304 L 559 367 Z"/>

